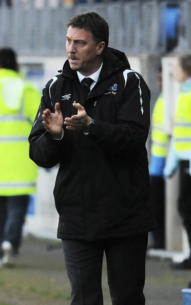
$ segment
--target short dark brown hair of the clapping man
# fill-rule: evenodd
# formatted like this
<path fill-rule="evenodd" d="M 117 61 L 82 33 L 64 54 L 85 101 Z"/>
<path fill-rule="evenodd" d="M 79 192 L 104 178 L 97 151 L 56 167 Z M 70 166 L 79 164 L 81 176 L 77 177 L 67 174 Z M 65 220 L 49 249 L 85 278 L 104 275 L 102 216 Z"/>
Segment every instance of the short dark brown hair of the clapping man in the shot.
<path fill-rule="evenodd" d="M 109 27 L 104 17 L 95 12 L 81 13 L 68 20 L 67 28 L 69 27 L 90 31 L 96 43 L 104 41 L 105 47 L 102 55 L 105 54 L 109 43 Z"/>

